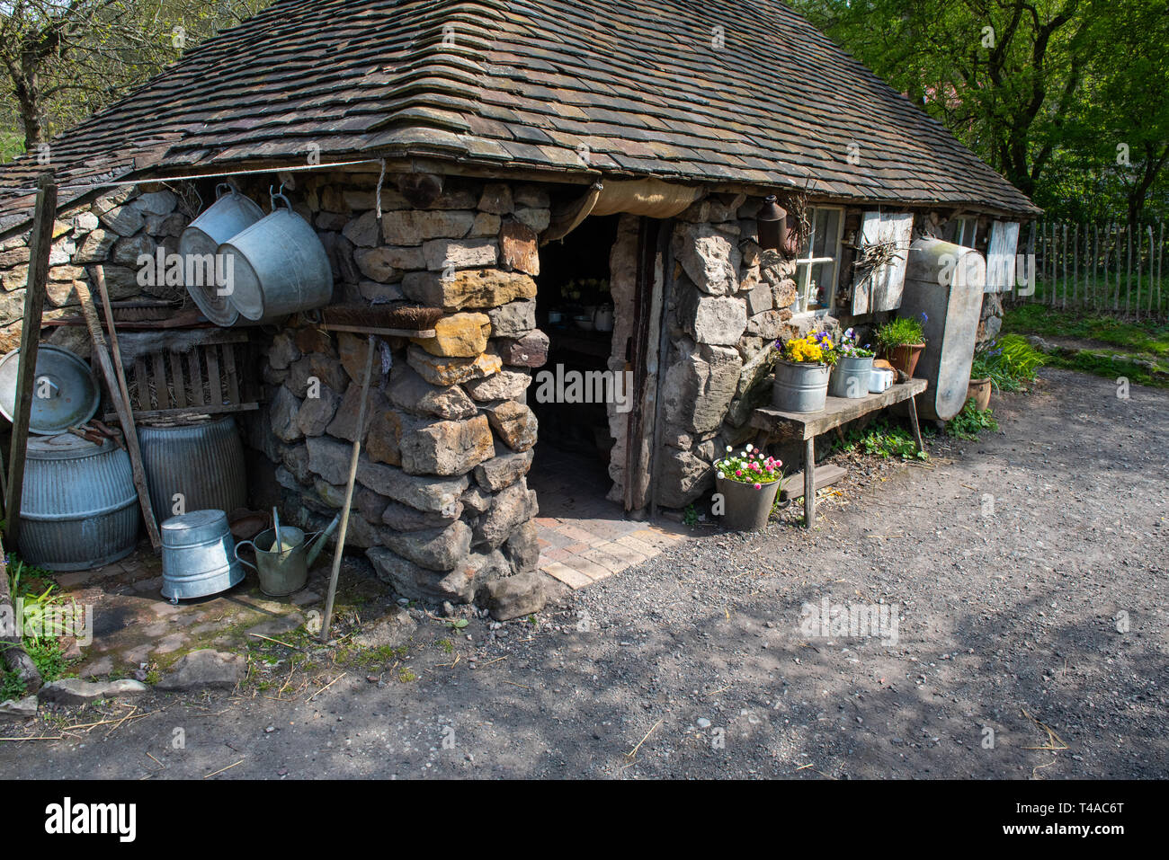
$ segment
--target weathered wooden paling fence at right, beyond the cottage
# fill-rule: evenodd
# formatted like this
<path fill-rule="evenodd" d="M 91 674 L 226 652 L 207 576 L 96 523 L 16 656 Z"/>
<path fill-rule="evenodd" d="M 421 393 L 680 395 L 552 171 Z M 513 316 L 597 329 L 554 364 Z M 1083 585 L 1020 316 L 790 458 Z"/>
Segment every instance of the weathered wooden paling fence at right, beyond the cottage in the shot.
<path fill-rule="evenodd" d="M 1019 254 L 1035 255 L 1035 291 L 1016 286 L 1011 296 L 1050 307 L 1106 311 L 1136 319 L 1169 317 L 1164 234 L 1163 222 L 1032 222 L 1024 228 L 1028 238 L 1025 243 L 1021 240 Z M 1021 273 L 1023 270 L 1021 263 Z"/>

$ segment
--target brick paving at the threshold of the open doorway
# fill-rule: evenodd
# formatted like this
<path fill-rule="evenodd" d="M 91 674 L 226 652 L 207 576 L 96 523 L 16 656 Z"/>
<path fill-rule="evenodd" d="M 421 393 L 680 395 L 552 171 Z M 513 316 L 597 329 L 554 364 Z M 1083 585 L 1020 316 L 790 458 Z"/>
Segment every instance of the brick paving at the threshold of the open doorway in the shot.
<path fill-rule="evenodd" d="M 527 481 L 540 502 L 540 569 L 572 589 L 620 574 L 687 538 L 672 522 L 627 520 L 621 505 L 604 498 L 611 486 L 604 466 L 584 455 L 538 445 Z"/>

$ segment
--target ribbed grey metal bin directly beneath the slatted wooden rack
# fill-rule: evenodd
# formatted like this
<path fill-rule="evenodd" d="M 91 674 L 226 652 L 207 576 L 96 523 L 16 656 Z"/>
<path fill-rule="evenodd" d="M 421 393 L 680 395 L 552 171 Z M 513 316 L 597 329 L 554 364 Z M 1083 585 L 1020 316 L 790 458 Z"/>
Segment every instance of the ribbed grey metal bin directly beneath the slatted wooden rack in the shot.
<path fill-rule="evenodd" d="M 248 504 L 243 442 L 235 418 L 185 426 L 139 426 L 150 501 L 159 516 L 206 508 L 235 511 Z"/>

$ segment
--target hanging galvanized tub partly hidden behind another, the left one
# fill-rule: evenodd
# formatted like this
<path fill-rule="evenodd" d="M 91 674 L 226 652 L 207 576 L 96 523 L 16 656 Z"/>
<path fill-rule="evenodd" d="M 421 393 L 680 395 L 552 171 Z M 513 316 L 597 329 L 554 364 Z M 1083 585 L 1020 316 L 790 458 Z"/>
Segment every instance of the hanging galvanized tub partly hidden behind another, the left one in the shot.
<path fill-rule="evenodd" d="M 216 272 L 228 275 L 228 282 L 234 282 L 235 275 L 227 270 L 226 263 L 216 261 L 219 247 L 263 219 L 264 210 L 226 182 L 216 186 L 215 194 L 215 202 L 182 231 L 179 254 L 187 275 L 184 283 L 191 298 L 207 319 L 217 326 L 228 327 L 240 321 L 240 312 L 226 294 L 220 294 L 221 286 L 215 283 Z M 209 266 L 207 261 L 210 261 Z M 199 273 L 198 277 L 193 276 L 195 272 Z M 208 272 L 213 276 L 210 279 L 207 277 Z M 231 283 L 224 284 L 222 289 L 231 289 Z"/>

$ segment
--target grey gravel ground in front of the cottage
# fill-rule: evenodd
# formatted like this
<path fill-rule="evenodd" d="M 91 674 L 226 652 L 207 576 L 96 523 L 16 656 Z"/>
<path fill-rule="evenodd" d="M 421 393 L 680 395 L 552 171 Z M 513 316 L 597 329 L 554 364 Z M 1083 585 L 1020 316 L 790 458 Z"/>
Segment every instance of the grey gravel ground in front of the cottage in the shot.
<path fill-rule="evenodd" d="M 927 464 L 853 463 L 811 532 L 699 529 L 534 620 L 423 617 L 376 672 L 9 723 L 62 740 L 0 774 L 1164 778 L 1169 391 L 1043 370 L 994 405 Z M 809 627 L 825 598 L 895 640 Z"/>

